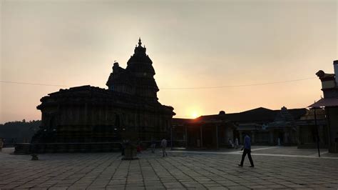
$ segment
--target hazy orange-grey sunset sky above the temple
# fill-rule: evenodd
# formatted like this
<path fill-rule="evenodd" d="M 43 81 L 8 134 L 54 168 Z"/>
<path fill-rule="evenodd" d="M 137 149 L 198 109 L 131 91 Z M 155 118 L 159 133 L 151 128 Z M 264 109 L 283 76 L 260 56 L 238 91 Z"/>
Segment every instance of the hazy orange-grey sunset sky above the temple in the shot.
<path fill-rule="evenodd" d="M 0 1 L 0 124 L 41 119 L 41 97 L 59 89 L 107 89 L 139 37 L 179 118 L 307 107 L 322 95 L 315 73 L 338 59 L 334 0 Z M 227 87 L 177 89 L 215 86 Z"/>

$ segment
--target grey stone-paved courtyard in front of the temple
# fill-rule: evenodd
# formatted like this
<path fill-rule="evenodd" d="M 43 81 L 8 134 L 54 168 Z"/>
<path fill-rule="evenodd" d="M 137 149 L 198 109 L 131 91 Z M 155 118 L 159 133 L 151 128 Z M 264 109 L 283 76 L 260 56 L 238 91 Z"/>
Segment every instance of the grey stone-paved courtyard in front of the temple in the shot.
<path fill-rule="evenodd" d="M 139 160 L 118 153 L 13 155 L 0 152 L 0 189 L 338 189 L 338 154 L 324 149 L 253 146 L 241 151 L 143 151 Z"/>

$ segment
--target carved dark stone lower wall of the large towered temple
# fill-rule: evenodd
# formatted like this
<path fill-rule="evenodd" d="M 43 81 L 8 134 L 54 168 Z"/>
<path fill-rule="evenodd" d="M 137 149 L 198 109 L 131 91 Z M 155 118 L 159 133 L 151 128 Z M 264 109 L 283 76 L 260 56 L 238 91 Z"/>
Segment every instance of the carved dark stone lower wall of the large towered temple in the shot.
<path fill-rule="evenodd" d="M 138 131 L 141 140 L 150 141 L 152 137 L 160 140 L 171 126 L 171 115 L 107 105 L 67 105 L 42 112 L 44 126 L 51 127 L 52 120 L 57 121 L 56 136 L 61 142 L 120 141 L 125 129 Z"/>

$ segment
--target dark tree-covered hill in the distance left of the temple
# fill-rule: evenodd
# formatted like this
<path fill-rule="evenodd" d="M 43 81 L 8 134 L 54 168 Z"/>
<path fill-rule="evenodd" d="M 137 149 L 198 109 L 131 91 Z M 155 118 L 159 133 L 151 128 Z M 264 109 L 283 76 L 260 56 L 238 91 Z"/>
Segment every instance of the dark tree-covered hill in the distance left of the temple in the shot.
<path fill-rule="evenodd" d="M 30 142 L 40 125 L 40 120 L 26 121 L 25 119 L 0 124 L 0 138 L 4 138 L 7 145 Z"/>

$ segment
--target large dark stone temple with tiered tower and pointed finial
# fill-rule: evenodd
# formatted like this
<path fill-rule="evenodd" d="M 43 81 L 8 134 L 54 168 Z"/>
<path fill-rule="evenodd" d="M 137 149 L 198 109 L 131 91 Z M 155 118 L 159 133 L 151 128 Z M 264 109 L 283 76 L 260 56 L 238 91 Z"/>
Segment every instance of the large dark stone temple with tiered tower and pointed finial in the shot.
<path fill-rule="evenodd" d="M 72 151 L 86 151 L 93 144 L 100 149 L 101 144 L 119 143 L 131 138 L 130 134 L 140 141 L 167 137 L 175 113 L 173 107 L 158 101 L 153 61 L 145 51 L 139 39 L 126 69 L 113 64 L 108 89 L 78 86 L 44 96 L 37 106 L 42 115 L 41 129 L 32 143 L 53 143 L 54 151 L 68 151 L 68 144 L 72 144 Z"/>

